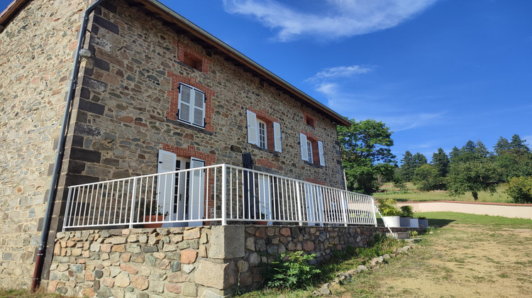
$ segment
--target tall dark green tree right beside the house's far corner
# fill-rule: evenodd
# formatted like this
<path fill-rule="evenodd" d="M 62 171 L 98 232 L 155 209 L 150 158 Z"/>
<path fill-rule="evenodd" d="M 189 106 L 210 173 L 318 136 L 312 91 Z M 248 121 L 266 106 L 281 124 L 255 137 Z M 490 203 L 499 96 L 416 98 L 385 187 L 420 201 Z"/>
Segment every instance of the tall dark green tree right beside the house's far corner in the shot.
<path fill-rule="evenodd" d="M 349 127 L 338 126 L 338 142 L 348 189 L 372 194 L 379 189 L 377 176 L 392 180 L 395 155 L 392 131 L 381 121 L 354 121 Z"/>

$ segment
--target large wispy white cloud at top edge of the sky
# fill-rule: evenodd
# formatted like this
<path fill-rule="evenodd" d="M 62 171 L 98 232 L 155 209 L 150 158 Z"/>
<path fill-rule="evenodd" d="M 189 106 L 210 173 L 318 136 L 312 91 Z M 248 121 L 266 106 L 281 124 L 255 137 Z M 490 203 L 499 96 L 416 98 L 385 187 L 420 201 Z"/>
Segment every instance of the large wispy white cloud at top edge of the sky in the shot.
<path fill-rule="evenodd" d="M 361 35 L 392 28 L 421 13 L 437 0 L 307 0 L 302 11 L 274 0 L 223 0 L 229 13 L 254 16 L 277 29 L 282 41 L 311 36 L 323 39 Z M 319 1 L 319 2 L 316 2 Z"/>

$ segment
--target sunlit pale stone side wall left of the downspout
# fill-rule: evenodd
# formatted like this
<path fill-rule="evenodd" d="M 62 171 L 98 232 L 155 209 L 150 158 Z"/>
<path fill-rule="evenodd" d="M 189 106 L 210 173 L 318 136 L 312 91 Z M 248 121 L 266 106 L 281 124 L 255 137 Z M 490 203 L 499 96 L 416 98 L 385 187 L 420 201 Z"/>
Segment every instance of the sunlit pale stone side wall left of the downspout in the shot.
<path fill-rule="evenodd" d="M 28 2 L 0 33 L 0 287 L 31 283 L 79 18 L 89 1 Z"/>

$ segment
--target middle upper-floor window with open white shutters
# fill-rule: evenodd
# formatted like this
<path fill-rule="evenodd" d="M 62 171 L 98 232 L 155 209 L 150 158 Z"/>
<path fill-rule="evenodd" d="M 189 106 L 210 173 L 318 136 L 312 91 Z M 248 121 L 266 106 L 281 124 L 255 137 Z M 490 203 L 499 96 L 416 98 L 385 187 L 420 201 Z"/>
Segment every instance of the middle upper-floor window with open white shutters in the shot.
<path fill-rule="evenodd" d="M 248 143 L 260 148 L 282 152 L 281 125 L 267 121 L 267 117 L 257 118 L 253 111 L 246 111 L 248 119 Z M 270 140 L 270 142 L 268 142 Z"/>

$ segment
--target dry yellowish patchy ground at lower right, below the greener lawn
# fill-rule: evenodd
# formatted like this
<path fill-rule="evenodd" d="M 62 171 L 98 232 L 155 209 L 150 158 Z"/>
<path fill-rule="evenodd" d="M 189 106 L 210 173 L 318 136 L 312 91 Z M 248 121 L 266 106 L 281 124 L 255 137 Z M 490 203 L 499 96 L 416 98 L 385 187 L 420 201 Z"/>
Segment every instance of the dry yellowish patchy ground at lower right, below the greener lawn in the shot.
<path fill-rule="evenodd" d="M 532 230 L 449 226 L 339 297 L 532 297 Z"/>

